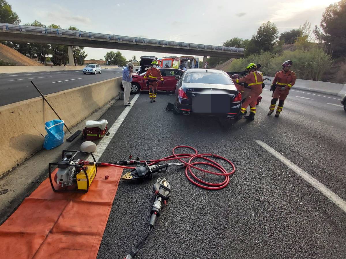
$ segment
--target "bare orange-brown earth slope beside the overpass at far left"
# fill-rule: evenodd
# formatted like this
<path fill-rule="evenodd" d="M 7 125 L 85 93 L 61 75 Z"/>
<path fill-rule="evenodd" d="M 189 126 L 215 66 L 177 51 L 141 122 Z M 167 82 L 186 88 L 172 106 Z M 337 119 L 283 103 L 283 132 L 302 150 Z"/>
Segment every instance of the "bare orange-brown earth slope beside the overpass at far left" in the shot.
<path fill-rule="evenodd" d="M 0 44 L 0 60 L 16 66 L 43 66 L 6 45 Z"/>

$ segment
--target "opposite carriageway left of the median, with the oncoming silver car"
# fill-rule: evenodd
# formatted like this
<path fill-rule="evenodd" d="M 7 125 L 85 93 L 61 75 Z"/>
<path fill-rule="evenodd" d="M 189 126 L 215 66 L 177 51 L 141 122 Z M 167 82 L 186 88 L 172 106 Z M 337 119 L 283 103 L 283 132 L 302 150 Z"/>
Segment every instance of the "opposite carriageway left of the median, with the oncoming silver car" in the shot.
<path fill-rule="evenodd" d="M 39 96 L 30 81 L 46 95 L 118 77 L 121 71 L 108 68 L 97 75 L 84 75 L 82 70 L 0 74 L 0 106 Z"/>

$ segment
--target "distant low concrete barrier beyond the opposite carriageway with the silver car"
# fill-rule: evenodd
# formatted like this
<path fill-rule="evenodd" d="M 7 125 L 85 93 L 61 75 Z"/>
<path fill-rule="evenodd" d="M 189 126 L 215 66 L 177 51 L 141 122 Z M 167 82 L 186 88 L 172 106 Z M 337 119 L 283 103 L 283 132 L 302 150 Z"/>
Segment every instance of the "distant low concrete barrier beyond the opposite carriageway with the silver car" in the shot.
<path fill-rule="evenodd" d="M 82 70 L 85 66 L 0 66 L 0 74 L 45 71 Z M 119 68 L 117 66 L 101 66 L 102 69 Z"/>

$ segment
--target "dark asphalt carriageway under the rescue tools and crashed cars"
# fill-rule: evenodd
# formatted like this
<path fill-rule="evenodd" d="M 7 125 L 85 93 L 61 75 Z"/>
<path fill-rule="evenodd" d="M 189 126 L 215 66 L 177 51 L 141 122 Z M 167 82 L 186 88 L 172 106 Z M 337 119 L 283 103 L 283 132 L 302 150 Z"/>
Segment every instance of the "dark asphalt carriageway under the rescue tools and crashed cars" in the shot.
<path fill-rule="evenodd" d="M 346 210 L 256 142 L 345 201 L 346 113 L 339 98 L 293 87 L 275 118 L 267 116 L 271 92 L 262 97 L 255 121 L 235 122 L 174 115 L 163 111 L 174 96 L 159 93 L 150 103 L 140 94 L 99 161 L 157 159 L 190 145 L 240 162 L 218 191 L 192 185 L 176 167 L 153 180 L 121 180 L 98 258 L 124 258 L 145 235 L 158 177 L 170 182 L 172 196 L 137 258 L 345 258 Z M 102 118 L 111 125 L 123 109 L 118 101 Z"/>

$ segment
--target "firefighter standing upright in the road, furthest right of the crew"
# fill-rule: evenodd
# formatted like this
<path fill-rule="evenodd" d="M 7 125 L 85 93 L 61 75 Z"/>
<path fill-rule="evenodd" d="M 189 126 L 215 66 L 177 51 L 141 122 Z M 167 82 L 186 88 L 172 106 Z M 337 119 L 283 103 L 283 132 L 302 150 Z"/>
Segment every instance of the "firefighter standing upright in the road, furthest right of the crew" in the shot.
<path fill-rule="evenodd" d="M 293 62 L 291 60 L 285 61 L 282 63 L 282 71 L 275 74 L 273 83 L 270 87 L 270 90 L 273 91 L 273 99 L 269 107 L 268 115 L 274 112 L 277 99 L 279 99 L 279 105 L 277 105 L 275 117 L 279 117 L 282 112 L 285 99 L 296 79 L 295 73 L 290 71 L 292 64 Z"/>

